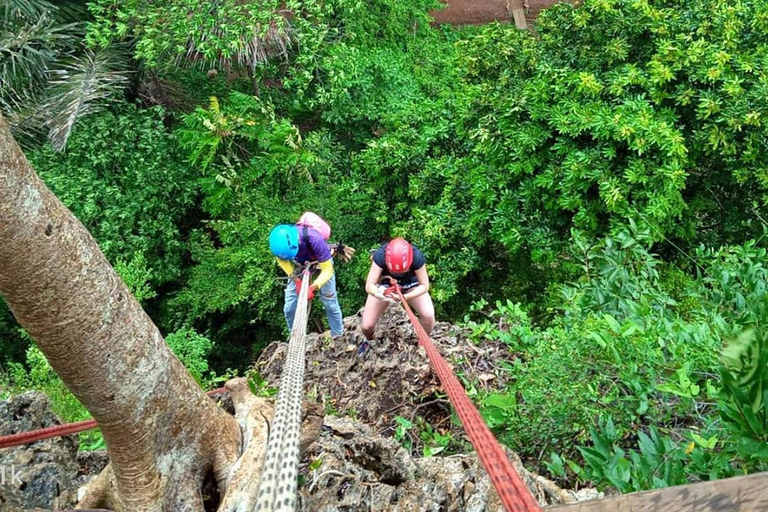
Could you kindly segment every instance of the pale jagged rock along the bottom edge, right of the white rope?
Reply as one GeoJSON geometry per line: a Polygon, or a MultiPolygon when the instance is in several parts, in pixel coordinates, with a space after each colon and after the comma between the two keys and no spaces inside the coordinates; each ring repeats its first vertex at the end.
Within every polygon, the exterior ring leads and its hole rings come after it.
{"type": "MultiPolygon", "coordinates": [[[[504,510],[474,454],[414,459],[394,439],[352,419],[326,416],[323,427],[323,434],[302,457],[301,510],[504,510]]],[[[540,504],[575,501],[575,495],[529,473],[517,456],[509,455],[540,504]]]]}

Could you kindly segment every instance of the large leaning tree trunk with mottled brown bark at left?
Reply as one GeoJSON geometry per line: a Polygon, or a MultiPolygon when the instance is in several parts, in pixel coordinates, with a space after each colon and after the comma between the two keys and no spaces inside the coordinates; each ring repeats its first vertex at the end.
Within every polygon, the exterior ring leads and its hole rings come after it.
{"type": "MultiPolygon", "coordinates": [[[[200,511],[239,456],[203,393],[96,242],[37,177],[0,116],[0,294],[98,421],[125,511],[200,511]]],[[[223,494],[223,493],[222,493],[223,494]]]]}

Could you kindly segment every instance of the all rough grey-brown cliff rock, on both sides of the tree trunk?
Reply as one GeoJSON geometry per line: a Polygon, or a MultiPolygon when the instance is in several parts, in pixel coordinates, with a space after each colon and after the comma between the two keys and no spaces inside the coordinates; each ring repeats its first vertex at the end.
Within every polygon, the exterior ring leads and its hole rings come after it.
{"type": "MultiPolygon", "coordinates": [[[[502,511],[474,454],[422,458],[393,438],[399,415],[410,420],[422,417],[436,431],[466,444],[464,431],[451,421],[440,382],[402,311],[390,308],[382,317],[371,349],[363,357],[357,355],[359,317],[360,313],[345,319],[346,333],[338,340],[326,334],[307,338],[309,403],[302,431],[306,446],[302,446],[300,466],[300,510],[502,511]]],[[[481,389],[506,387],[508,374],[496,367],[506,352],[504,345],[476,346],[466,331],[444,323],[435,327],[433,339],[455,371],[481,389]]],[[[271,385],[280,383],[286,347],[286,343],[271,344],[256,363],[271,385]]],[[[227,394],[217,399],[223,407],[231,407],[227,394]]],[[[0,402],[0,435],[58,424],[40,393],[0,402]]],[[[414,443],[419,442],[415,437],[414,443]]],[[[542,505],[601,497],[594,490],[562,490],[527,471],[515,453],[507,450],[507,455],[542,505]]],[[[77,488],[107,462],[103,451],[78,454],[75,436],[2,450],[0,469],[21,468],[23,484],[0,485],[0,512],[72,507],[77,488]]]]}

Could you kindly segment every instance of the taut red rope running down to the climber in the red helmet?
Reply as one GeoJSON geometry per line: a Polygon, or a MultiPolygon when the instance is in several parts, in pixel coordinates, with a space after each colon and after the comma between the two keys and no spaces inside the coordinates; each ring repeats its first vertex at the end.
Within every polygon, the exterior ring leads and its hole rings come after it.
{"type": "Polygon", "coordinates": [[[419,343],[427,352],[430,363],[435,370],[440,382],[443,384],[451,404],[464,425],[464,430],[469,436],[472,446],[475,447],[480,462],[491,477],[491,482],[499,493],[501,502],[509,512],[541,512],[541,507],[531,495],[515,468],[509,462],[507,455],[493,437],[491,430],[483,421],[480,413],[470,401],[466,391],[459,383],[453,371],[437,351],[434,343],[429,338],[419,320],[411,311],[411,307],[403,297],[399,286],[395,285],[400,303],[408,313],[413,328],[419,337],[419,343]]]}

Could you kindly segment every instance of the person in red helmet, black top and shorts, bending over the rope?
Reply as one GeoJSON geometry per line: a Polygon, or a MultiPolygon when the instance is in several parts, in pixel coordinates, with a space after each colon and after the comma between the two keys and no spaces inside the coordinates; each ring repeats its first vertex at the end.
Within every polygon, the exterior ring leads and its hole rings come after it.
{"type": "Polygon", "coordinates": [[[394,238],[379,247],[371,260],[371,269],[365,281],[368,299],[365,302],[362,323],[366,342],[360,352],[364,352],[367,342],[373,339],[373,332],[381,314],[398,300],[396,296],[384,295],[393,279],[402,288],[405,300],[419,314],[421,326],[430,334],[435,326],[435,306],[429,296],[429,276],[421,251],[403,238],[394,238]]]}

